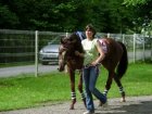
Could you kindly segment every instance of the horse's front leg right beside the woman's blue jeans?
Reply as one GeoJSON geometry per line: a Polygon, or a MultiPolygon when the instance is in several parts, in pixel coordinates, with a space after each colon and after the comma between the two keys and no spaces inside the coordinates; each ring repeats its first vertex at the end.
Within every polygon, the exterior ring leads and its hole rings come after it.
{"type": "Polygon", "coordinates": [[[81,100],[86,106],[86,97],[84,94],[84,91],[83,91],[83,72],[80,71],[80,77],[79,77],[79,81],[78,81],[78,90],[81,94],[81,100]]]}

